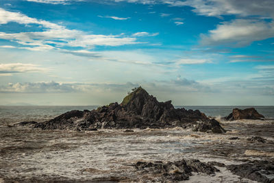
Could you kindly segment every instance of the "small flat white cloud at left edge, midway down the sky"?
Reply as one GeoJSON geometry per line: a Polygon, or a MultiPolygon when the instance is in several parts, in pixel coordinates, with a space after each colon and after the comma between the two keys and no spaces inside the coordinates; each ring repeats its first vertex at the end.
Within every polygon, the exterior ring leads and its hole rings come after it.
{"type": "Polygon", "coordinates": [[[23,64],[23,63],[12,63],[12,64],[0,64],[0,75],[13,73],[29,73],[29,72],[43,72],[45,68],[41,68],[36,64],[23,64]]]}

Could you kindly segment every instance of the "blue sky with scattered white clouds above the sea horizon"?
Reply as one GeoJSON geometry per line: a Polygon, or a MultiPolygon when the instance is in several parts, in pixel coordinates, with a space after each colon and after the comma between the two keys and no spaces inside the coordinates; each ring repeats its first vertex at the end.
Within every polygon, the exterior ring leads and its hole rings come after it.
{"type": "Polygon", "coordinates": [[[1,0],[0,105],[274,105],[273,0],[1,0]]]}

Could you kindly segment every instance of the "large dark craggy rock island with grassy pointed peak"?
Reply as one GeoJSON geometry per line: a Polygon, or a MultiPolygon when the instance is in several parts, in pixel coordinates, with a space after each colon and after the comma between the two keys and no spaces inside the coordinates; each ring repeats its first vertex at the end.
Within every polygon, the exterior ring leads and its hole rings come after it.
{"type": "Polygon", "coordinates": [[[120,104],[110,103],[108,106],[102,106],[91,111],[72,110],[35,125],[35,127],[40,127],[43,130],[163,128],[175,126],[195,126],[194,130],[201,132],[225,132],[219,122],[208,119],[199,110],[174,108],[171,101],[159,102],[141,87],[129,93],[120,104]]]}

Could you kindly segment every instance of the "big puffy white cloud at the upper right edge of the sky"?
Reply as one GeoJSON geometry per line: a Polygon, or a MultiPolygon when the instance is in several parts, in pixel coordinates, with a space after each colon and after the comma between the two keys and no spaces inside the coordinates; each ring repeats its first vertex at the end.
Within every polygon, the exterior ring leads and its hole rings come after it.
{"type": "Polygon", "coordinates": [[[234,45],[241,47],[256,40],[274,37],[274,23],[236,19],[218,25],[208,35],[201,35],[203,45],[234,45]]]}

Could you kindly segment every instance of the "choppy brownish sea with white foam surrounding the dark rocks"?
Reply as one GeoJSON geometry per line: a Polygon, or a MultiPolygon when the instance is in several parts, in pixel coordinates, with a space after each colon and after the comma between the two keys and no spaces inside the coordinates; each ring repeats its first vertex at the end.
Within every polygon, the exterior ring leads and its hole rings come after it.
{"type": "MultiPolygon", "coordinates": [[[[227,116],[233,108],[253,107],[266,117],[263,121],[221,121],[225,134],[192,132],[182,127],[125,133],[123,129],[76,132],[13,125],[97,107],[0,106],[0,182],[162,182],[161,176],[138,171],[134,164],[198,159],[229,165],[274,160],[274,106],[175,106],[217,118],[227,116]],[[252,136],[265,138],[268,143],[247,141],[252,136]]],[[[218,169],[216,175],[192,173],[186,182],[253,183],[225,167],[218,169]]]]}

